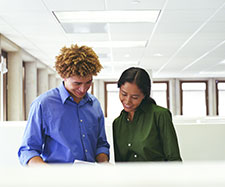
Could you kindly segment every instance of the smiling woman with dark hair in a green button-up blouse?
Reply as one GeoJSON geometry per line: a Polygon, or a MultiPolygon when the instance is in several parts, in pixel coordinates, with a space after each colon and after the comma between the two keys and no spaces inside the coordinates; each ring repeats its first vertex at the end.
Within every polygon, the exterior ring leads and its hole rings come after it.
{"type": "Polygon", "coordinates": [[[150,97],[148,73],[131,67],[118,87],[124,109],[113,122],[115,161],[181,161],[171,113],[150,97]]]}

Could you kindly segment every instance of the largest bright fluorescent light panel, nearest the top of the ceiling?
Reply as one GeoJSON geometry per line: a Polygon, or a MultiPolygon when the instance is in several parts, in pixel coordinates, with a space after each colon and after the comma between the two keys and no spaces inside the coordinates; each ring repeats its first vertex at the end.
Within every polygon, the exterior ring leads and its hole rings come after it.
{"type": "Polygon", "coordinates": [[[55,11],[61,23],[78,22],[151,22],[155,23],[160,10],[139,11],[55,11]]]}

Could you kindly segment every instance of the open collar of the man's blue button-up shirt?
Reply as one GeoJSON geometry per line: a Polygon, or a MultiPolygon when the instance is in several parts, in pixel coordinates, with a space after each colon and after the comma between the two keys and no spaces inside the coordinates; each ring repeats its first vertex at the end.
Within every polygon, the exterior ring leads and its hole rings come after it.
{"type": "MultiPolygon", "coordinates": [[[[70,93],[66,90],[65,86],[64,86],[64,82],[62,81],[62,83],[59,85],[58,87],[59,89],[59,94],[62,100],[62,103],[64,104],[66,102],[66,100],[68,98],[71,97],[70,93]]],[[[84,98],[80,101],[79,104],[85,104],[86,102],[93,102],[93,98],[91,97],[91,95],[89,93],[87,93],[84,98]]]]}

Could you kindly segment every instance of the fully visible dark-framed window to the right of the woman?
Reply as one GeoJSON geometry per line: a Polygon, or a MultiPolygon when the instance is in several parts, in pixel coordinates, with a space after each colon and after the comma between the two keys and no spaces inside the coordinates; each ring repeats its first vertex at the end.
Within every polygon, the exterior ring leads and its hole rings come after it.
{"type": "Polygon", "coordinates": [[[181,115],[208,115],[208,82],[180,81],[181,115]]]}

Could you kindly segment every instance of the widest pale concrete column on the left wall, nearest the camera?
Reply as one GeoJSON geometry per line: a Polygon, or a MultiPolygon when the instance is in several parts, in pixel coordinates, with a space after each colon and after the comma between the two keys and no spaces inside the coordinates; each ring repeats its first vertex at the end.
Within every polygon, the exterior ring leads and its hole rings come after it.
{"type": "Polygon", "coordinates": [[[8,53],[8,120],[24,120],[23,61],[20,50],[8,53]]]}

